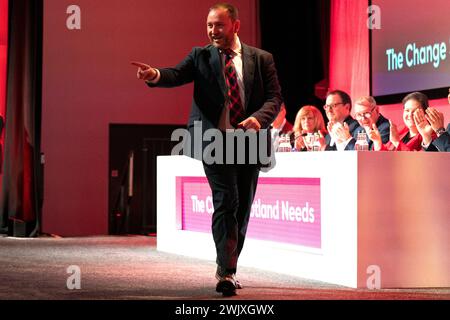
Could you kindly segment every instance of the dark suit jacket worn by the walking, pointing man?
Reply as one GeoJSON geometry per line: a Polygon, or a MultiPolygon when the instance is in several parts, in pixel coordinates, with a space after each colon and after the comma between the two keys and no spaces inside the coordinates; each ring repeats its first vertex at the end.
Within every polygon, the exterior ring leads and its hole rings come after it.
{"type": "MultiPolygon", "coordinates": [[[[282,101],[275,63],[270,53],[244,43],[241,45],[245,116],[255,117],[261,128],[266,129],[277,116],[282,101]]],[[[148,83],[150,87],[169,88],[194,82],[194,97],[188,122],[191,137],[194,121],[202,122],[202,132],[217,128],[222,109],[226,104],[227,88],[221,56],[216,47],[212,45],[195,47],[177,66],[159,71],[160,80],[157,84],[148,83]]],[[[270,139],[270,132],[268,138],[270,139]]],[[[202,150],[209,143],[211,142],[203,141],[202,150]]]]}

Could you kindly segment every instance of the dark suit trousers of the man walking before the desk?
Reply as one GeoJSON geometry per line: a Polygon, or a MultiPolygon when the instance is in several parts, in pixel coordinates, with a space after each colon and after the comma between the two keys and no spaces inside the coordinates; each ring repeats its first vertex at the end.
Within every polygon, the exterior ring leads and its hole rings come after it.
{"type": "Polygon", "coordinates": [[[251,164],[203,164],[212,191],[212,234],[217,264],[235,273],[244,246],[259,166],[251,164]]]}

